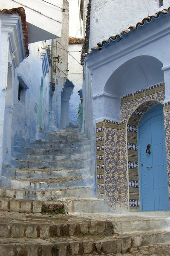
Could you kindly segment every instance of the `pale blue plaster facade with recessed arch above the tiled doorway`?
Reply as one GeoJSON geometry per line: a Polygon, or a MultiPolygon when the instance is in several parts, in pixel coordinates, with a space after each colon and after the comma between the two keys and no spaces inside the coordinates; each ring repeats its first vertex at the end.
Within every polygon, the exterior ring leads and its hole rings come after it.
{"type": "MultiPolygon", "coordinates": [[[[120,124],[122,121],[120,116],[124,116],[124,111],[130,113],[130,110],[128,102],[124,105],[124,109],[121,109],[121,96],[124,94],[130,98],[130,93],[135,92],[138,95],[136,96],[137,101],[140,90],[165,81],[165,99],[159,97],[162,102],[169,101],[170,55],[167,51],[170,40],[169,20],[169,14],[160,17],[153,23],[122,38],[121,41],[105,44],[100,51],[92,50],[91,54],[86,56],[83,87],[86,92],[84,96],[86,106],[84,131],[91,140],[92,148],[95,147],[95,141],[92,139],[95,123],[109,119],[109,122],[113,122],[114,125],[122,125],[122,131],[125,131],[124,123],[120,124]]],[[[150,99],[150,96],[147,97],[149,95],[147,93],[144,97],[145,101],[150,99]]],[[[153,99],[155,99],[154,97],[156,94],[153,93],[153,99]]],[[[131,105],[131,111],[136,108],[135,104],[136,102],[133,102],[131,105]]],[[[99,134],[104,131],[100,130],[102,127],[104,126],[99,127],[99,134]]],[[[110,126],[108,125],[107,128],[110,126]]],[[[98,139],[97,147],[99,147],[99,151],[102,151],[102,140],[104,140],[105,134],[98,136],[99,139],[96,138],[96,140],[98,139]]],[[[104,154],[98,156],[97,160],[100,162],[98,168],[103,168],[104,158],[100,157],[103,157],[104,154]]],[[[125,154],[122,156],[124,157],[125,154]]],[[[92,161],[95,162],[96,157],[93,154],[92,158],[92,161]]],[[[125,166],[126,164],[125,160],[125,166]]],[[[100,172],[99,175],[101,175],[100,172]]],[[[125,199],[126,207],[128,207],[127,198],[125,199]]]]}

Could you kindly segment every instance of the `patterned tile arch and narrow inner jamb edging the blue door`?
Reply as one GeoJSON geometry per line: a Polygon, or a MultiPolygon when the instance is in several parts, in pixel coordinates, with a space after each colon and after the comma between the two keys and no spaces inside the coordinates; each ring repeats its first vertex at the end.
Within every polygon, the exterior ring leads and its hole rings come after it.
{"type": "Polygon", "coordinates": [[[158,102],[164,101],[164,83],[159,83],[136,92],[141,98],[135,96],[135,93],[127,95],[124,104],[121,105],[122,119],[128,119],[127,122],[127,157],[128,157],[128,180],[129,180],[129,207],[130,210],[140,210],[139,200],[139,170],[138,170],[138,122],[144,113],[158,102]],[[147,94],[147,95],[146,95],[147,94]],[[130,100],[131,101],[128,102],[130,100]],[[138,98],[138,99],[137,99],[138,98]],[[127,103],[128,102],[128,103],[127,103]],[[128,109],[127,109],[128,108],[128,109]]]}

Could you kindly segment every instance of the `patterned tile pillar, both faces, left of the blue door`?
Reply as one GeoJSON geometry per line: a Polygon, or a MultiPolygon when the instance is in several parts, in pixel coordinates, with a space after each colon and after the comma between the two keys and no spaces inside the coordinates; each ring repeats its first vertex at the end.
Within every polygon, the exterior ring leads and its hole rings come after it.
{"type": "Polygon", "coordinates": [[[96,123],[98,194],[106,196],[112,209],[128,209],[125,128],[125,122],[114,120],[96,123]]]}

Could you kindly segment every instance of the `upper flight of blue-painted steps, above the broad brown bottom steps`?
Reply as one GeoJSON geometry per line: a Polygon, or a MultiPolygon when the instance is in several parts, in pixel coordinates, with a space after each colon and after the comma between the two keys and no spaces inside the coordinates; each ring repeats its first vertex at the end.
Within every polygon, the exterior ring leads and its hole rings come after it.
{"type": "Polygon", "coordinates": [[[17,142],[11,166],[3,165],[0,209],[35,213],[54,205],[65,212],[109,211],[104,199],[94,197],[90,161],[89,141],[77,128],[17,142]]]}

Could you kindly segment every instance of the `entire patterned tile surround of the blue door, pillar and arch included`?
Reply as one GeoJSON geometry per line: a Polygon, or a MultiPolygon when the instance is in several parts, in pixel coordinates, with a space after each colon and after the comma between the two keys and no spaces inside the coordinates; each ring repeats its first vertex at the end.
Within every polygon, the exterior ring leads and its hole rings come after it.
{"type": "Polygon", "coordinates": [[[103,119],[96,123],[98,194],[106,197],[114,210],[140,211],[138,122],[157,103],[164,106],[170,198],[170,102],[164,98],[164,82],[154,84],[121,97],[120,122],[103,119]]]}

